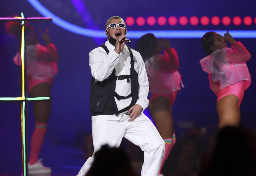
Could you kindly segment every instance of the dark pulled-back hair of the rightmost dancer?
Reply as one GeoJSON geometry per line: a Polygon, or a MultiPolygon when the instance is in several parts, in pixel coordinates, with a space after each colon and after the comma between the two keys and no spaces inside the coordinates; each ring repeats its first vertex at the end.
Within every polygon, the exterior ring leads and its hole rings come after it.
{"type": "Polygon", "coordinates": [[[214,43],[214,34],[216,32],[207,32],[201,39],[201,44],[204,49],[205,54],[210,55],[213,51],[210,49],[214,43]]]}

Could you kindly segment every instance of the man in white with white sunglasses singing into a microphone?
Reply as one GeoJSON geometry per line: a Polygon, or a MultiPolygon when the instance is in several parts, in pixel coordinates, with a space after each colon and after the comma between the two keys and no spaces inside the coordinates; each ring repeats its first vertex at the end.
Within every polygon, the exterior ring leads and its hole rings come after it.
{"type": "MultiPolygon", "coordinates": [[[[108,41],[89,53],[94,153],[104,144],[119,147],[124,137],[144,151],[141,176],[157,176],[165,142],[143,113],[148,106],[148,78],[141,55],[126,46],[126,33],[124,20],[112,16],[106,23],[108,41]]],[[[78,176],[86,175],[93,160],[94,154],[78,176]]]]}

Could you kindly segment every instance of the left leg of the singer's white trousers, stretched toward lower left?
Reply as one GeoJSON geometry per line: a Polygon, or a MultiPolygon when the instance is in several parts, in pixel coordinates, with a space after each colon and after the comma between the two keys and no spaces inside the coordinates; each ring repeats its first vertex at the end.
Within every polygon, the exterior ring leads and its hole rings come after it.
{"type": "Polygon", "coordinates": [[[94,152],[85,161],[77,176],[84,176],[88,172],[94,160],[94,153],[100,150],[102,145],[108,144],[110,147],[119,147],[123,139],[125,126],[122,121],[95,119],[91,123],[94,152]]]}

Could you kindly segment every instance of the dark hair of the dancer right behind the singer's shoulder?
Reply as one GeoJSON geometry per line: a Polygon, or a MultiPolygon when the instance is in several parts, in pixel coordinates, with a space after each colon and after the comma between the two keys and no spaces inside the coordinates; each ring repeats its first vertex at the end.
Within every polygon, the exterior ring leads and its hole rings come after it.
{"type": "Polygon", "coordinates": [[[137,42],[135,50],[138,51],[143,61],[147,61],[150,57],[154,56],[157,47],[157,38],[152,33],[145,34],[140,37],[137,42]]]}

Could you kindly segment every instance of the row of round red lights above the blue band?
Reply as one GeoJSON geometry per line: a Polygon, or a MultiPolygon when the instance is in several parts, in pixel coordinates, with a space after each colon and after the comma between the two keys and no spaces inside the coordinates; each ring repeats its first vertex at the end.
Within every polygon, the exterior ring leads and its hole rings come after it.
{"type": "MultiPolygon", "coordinates": [[[[125,18],[125,24],[127,26],[133,26],[135,22],[138,26],[144,26],[146,23],[149,26],[153,26],[156,23],[160,26],[164,26],[167,24],[167,22],[171,26],[175,26],[178,23],[181,26],[185,26],[188,23],[190,23],[192,26],[196,26],[199,23],[203,26],[207,26],[210,23],[214,26],[218,26],[220,23],[225,26],[228,26],[231,23],[236,26],[239,26],[242,23],[244,23],[246,26],[250,26],[253,24],[253,19],[251,16],[245,16],[243,19],[240,16],[235,16],[232,19],[229,16],[224,16],[221,19],[219,16],[213,16],[211,18],[208,16],[202,16],[200,19],[197,16],[191,16],[190,18],[187,18],[186,16],[181,16],[179,18],[170,16],[168,19],[165,16],[159,16],[157,19],[154,16],[149,16],[146,19],[142,16],[139,16],[136,19],[134,19],[132,16],[125,18]]],[[[254,23],[256,24],[256,17],[254,18],[254,23]]]]}

